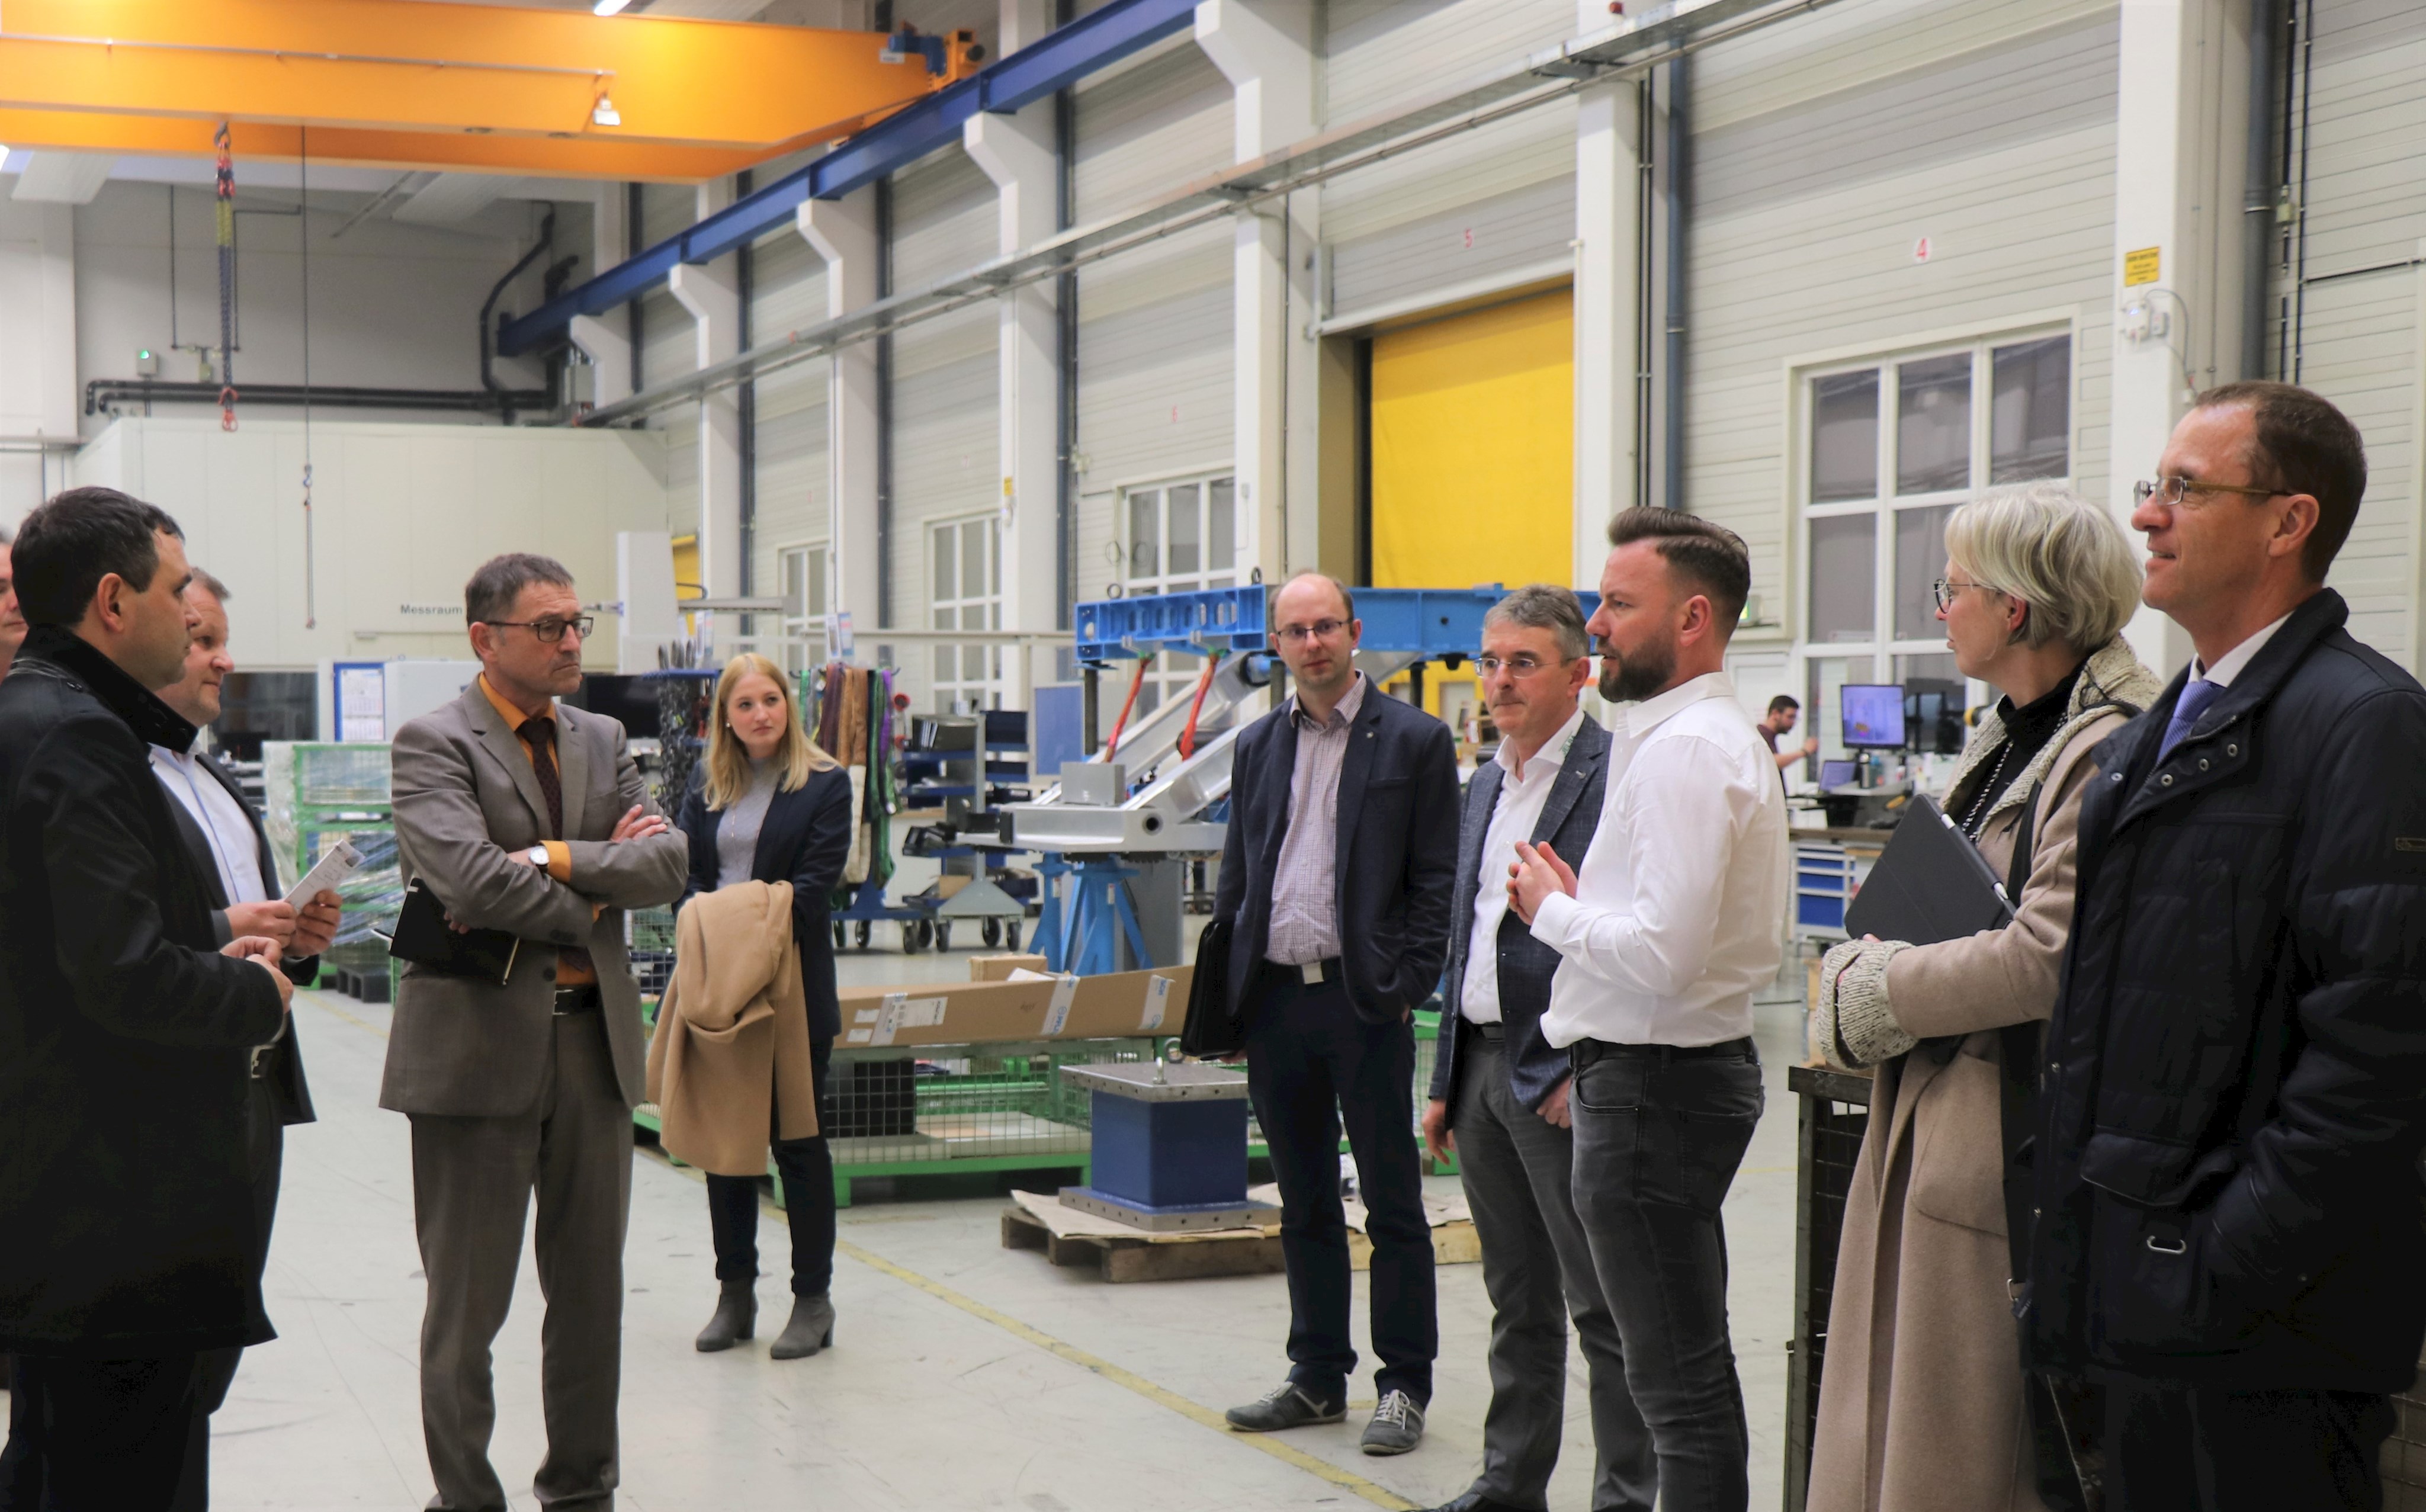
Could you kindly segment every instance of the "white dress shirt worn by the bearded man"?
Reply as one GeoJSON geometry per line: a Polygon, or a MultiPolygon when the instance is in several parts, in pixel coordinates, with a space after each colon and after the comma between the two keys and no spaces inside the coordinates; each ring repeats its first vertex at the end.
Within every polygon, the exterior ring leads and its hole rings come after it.
{"type": "Polygon", "coordinates": [[[1778,973],[1786,794],[1725,672],[1616,711],[1601,828],[1533,939],[1560,956],[1543,1036],[1703,1046],[1752,1034],[1778,973]]]}

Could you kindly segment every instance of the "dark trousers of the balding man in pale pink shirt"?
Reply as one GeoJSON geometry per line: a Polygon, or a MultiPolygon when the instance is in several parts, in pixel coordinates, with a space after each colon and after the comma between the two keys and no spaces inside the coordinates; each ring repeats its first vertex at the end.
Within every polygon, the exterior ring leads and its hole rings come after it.
{"type": "Polygon", "coordinates": [[[1359,1019],[1339,983],[1305,983],[1295,966],[1266,966],[1247,1002],[1247,1092],[1281,1184],[1288,1379],[1342,1403],[1356,1371],[1349,1226],[1339,1201],[1344,1124],[1373,1240],[1368,1301],[1380,1357],[1373,1383],[1429,1403],[1441,1323],[1414,1146],[1414,1031],[1405,1019],[1359,1019]]]}

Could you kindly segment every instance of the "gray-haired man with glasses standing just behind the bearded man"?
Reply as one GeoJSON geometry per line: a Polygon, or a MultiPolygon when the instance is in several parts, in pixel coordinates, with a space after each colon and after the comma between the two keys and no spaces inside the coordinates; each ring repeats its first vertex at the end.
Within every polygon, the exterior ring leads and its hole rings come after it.
{"type": "Polygon", "coordinates": [[[1652,1512],[1652,1437],[1625,1388],[1618,1325],[1574,1216],[1567,1053],[1541,1036],[1557,951],[1509,910],[1516,842],[1582,857],[1601,823],[1608,731],[1577,704],[1591,677],[1574,592],[1536,582],[1482,619],[1482,697],[1499,757],[1465,784],[1424,1143],[1458,1153],[1492,1296],[1482,1473],[1441,1512],[1538,1512],[1567,1427],[1567,1315],[1591,1371],[1594,1512],[1652,1512]]]}

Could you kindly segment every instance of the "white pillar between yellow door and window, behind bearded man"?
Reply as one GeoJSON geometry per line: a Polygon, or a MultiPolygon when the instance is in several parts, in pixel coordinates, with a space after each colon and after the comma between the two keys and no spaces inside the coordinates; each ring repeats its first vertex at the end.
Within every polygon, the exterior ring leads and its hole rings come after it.
{"type": "MultiPolygon", "coordinates": [[[[1577,24],[1606,24],[1584,0],[1577,24]]],[[[1577,97],[1574,121],[1574,585],[1594,587],[1608,556],[1608,517],[1635,502],[1635,347],[1640,345],[1640,126],[1642,85],[1611,83],[1577,97]]]]}

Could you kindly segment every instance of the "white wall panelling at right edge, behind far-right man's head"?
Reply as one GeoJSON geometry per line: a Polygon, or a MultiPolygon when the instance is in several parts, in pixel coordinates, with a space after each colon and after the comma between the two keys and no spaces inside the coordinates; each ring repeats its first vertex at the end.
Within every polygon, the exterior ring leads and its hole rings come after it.
{"type": "MultiPolygon", "coordinates": [[[[2319,0],[2310,80],[2307,277],[2416,257],[2426,238],[2426,12],[2319,0]]],[[[2411,672],[2419,658],[2419,269],[2310,284],[2297,379],[2368,444],[2368,495],[2329,582],[2351,633],[2411,672]]]]}

